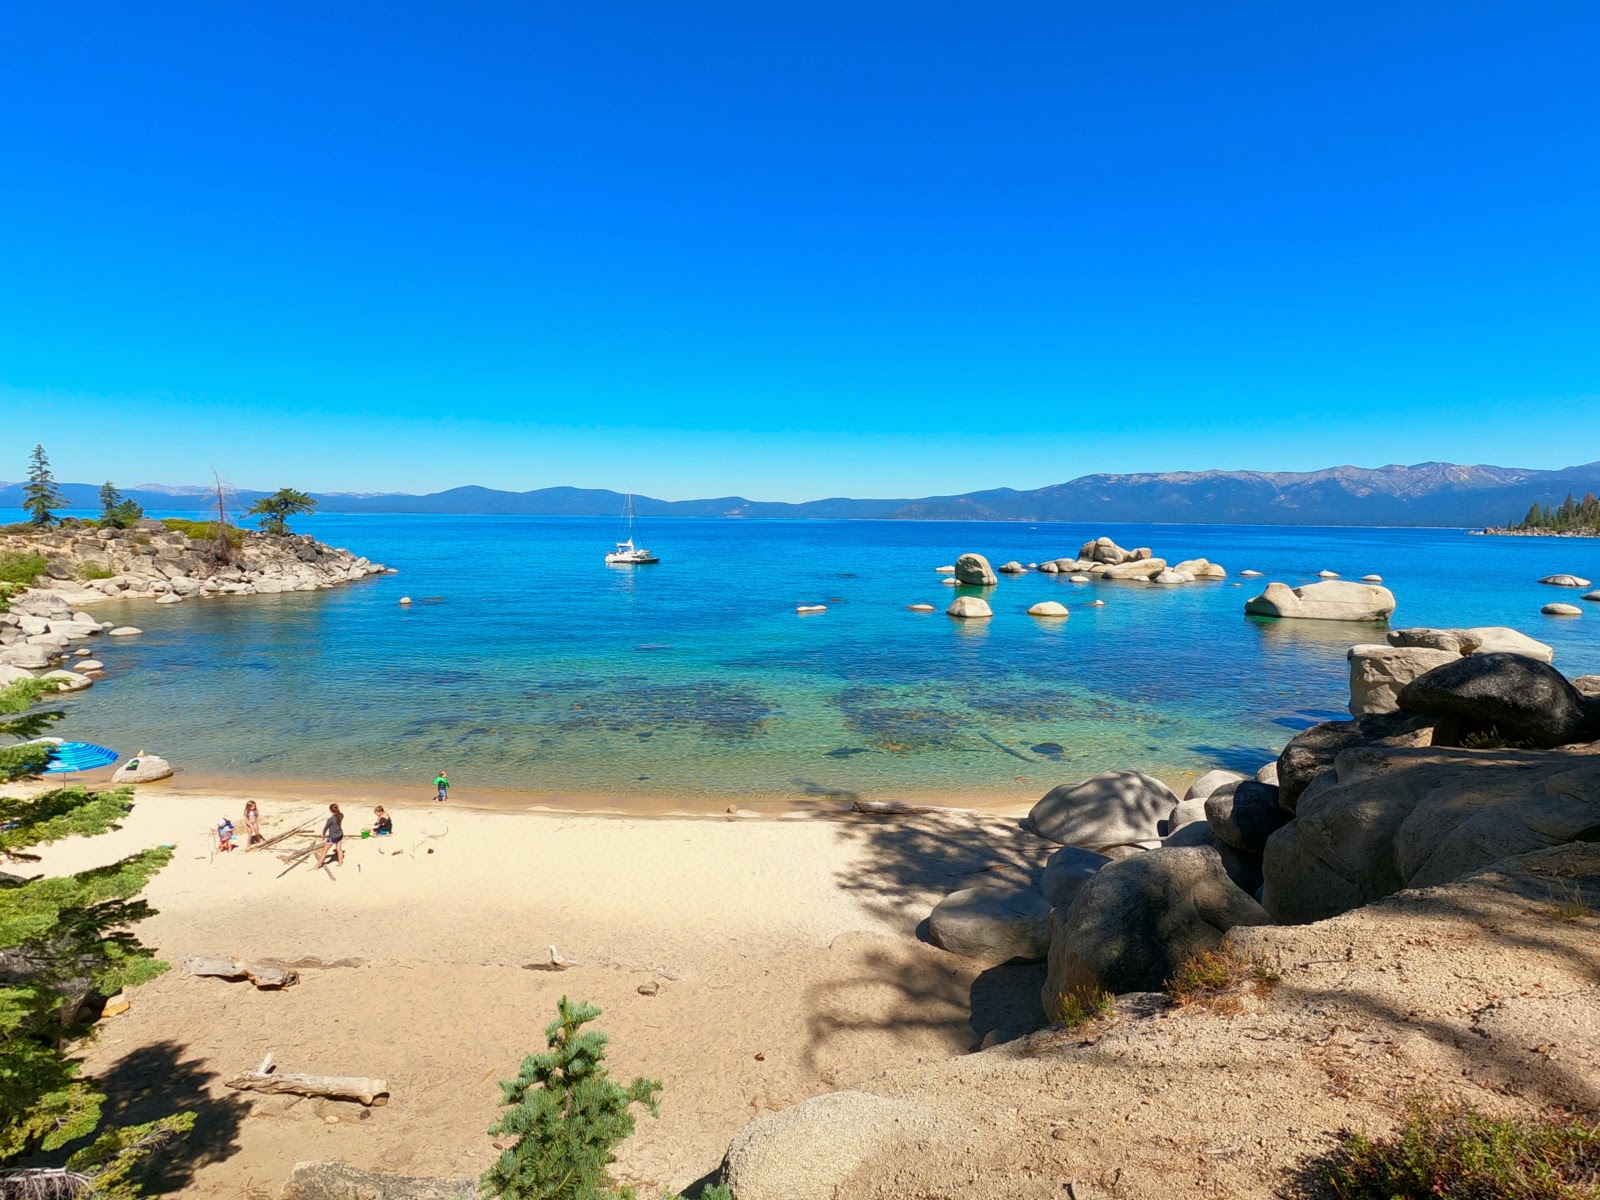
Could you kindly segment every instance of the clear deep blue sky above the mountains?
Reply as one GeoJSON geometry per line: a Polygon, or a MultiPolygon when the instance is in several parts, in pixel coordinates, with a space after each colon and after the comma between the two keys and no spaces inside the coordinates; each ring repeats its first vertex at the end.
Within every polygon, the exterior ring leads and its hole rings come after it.
{"type": "Polygon", "coordinates": [[[1600,5],[35,3],[0,478],[1600,459],[1600,5]]]}

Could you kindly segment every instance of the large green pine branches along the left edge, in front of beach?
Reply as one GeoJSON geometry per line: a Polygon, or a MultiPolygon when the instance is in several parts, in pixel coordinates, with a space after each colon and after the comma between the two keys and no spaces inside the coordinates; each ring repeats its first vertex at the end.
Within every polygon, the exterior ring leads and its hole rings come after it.
{"type": "MultiPolygon", "coordinates": [[[[58,710],[35,710],[51,688],[46,680],[0,688],[0,736],[38,738],[61,720],[58,710]]],[[[0,747],[0,779],[38,774],[51,752],[50,742],[0,747]]],[[[104,834],[131,806],[130,789],[0,797],[0,861],[37,861],[34,846],[104,834]]],[[[48,1181],[56,1195],[134,1197],[139,1162],[194,1125],[194,1114],[182,1114],[94,1136],[104,1098],[74,1054],[90,1030],[78,1011],[86,990],[110,995],[166,970],[130,926],[150,914],[138,894],[170,859],[170,850],[147,850],[75,875],[0,875],[0,1178],[19,1195],[48,1181]],[[13,1168],[24,1157],[61,1162],[13,1168]]]]}

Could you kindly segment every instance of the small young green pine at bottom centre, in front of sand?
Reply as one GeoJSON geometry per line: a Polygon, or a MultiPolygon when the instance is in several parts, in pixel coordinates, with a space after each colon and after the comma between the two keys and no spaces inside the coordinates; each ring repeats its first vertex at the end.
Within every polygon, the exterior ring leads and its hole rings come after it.
{"type": "Polygon", "coordinates": [[[514,1080],[501,1080],[506,1112],[491,1136],[517,1141],[483,1174],[483,1195],[498,1200],[632,1200],[606,1166],[618,1142],[634,1133],[630,1106],[659,1117],[658,1080],[635,1078],[626,1088],[605,1069],[606,1035],[584,1032],[600,1016],[590,1003],[565,995],[560,1016],[546,1026],[549,1051],[528,1054],[514,1080]]]}

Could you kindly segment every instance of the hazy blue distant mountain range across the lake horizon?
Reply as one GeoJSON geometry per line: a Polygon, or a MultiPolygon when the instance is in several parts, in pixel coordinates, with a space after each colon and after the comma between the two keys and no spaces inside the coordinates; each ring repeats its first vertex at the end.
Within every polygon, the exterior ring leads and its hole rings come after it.
{"type": "MultiPolygon", "coordinates": [[[[70,507],[98,509],[99,485],[64,483],[70,507]]],[[[790,517],[834,520],[1174,522],[1190,525],[1445,525],[1520,520],[1530,504],[1600,493],[1600,462],[1562,470],[1419,462],[1413,467],[1326,470],[1179,470],[1083,475],[1034,491],[994,488],[922,499],[832,498],[782,504],[742,496],[661,501],[635,496],[642,517],[790,517]]],[[[200,512],[210,490],[141,483],[123,494],[146,509],[200,512]]],[[[266,496],[240,490],[240,507],[266,496]]],[[[598,488],[450,488],[403,493],[314,493],[322,512],[499,514],[616,517],[622,494],[598,488]]],[[[21,483],[0,483],[0,507],[22,501],[21,483]]]]}

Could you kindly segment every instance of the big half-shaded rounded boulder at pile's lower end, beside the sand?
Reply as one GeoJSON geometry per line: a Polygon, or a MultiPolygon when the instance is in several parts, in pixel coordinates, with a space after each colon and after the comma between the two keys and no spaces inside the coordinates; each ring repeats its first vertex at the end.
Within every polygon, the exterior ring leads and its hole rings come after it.
{"type": "Polygon", "coordinates": [[[1163,846],[1099,870],[1051,922],[1046,1013],[1096,989],[1154,992],[1234,926],[1269,917],[1214,850],[1163,846]]]}

